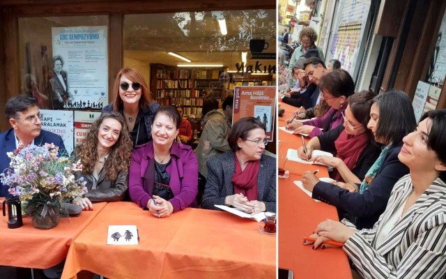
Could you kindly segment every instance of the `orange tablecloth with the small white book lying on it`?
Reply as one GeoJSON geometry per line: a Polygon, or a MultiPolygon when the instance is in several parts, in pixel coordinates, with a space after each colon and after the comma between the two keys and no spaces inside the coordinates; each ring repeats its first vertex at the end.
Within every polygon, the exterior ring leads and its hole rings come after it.
{"type": "Polygon", "coordinates": [[[72,243],[62,278],[275,278],[275,236],[231,213],[185,209],[155,218],[130,202],[107,204],[72,243]],[[107,246],[109,225],[137,225],[137,246],[107,246]]]}

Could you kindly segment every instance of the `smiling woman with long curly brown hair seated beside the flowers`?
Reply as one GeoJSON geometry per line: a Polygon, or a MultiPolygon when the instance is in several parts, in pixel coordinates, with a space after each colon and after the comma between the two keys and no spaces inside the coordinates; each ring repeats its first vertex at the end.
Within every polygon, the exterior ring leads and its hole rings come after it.
{"type": "Polygon", "coordinates": [[[77,175],[84,177],[89,192],[73,199],[73,204],[93,210],[92,202],[118,202],[125,197],[132,154],[132,139],[125,133],[126,128],[121,114],[104,113],[77,144],[74,153],[84,167],[77,175]]]}

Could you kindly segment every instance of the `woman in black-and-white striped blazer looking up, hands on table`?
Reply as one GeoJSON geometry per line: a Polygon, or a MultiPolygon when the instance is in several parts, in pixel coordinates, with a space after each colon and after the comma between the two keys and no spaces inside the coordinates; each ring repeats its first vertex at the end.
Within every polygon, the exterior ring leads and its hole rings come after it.
{"type": "Polygon", "coordinates": [[[446,278],[446,110],[426,112],[403,138],[399,160],[410,174],[394,186],[372,229],[325,220],[314,248],[344,243],[364,278],[446,278]]]}

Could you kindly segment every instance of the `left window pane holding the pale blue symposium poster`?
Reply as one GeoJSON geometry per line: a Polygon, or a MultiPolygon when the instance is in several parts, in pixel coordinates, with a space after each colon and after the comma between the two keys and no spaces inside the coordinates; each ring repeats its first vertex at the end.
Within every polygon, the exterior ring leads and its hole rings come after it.
{"type": "Polygon", "coordinates": [[[22,94],[47,110],[107,103],[107,15],[20,17],[18,25],[22,94]]]}

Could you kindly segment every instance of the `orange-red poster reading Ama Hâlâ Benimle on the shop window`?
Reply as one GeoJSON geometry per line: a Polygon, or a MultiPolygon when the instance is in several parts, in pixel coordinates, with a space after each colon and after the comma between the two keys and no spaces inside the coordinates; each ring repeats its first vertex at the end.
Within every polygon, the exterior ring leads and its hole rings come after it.
{"type": "Polygon", "coordinates": [[[266,140],[274,135],[276,86],[235,86],[232,123],[254,117],[266,127],[266,140]]]}

